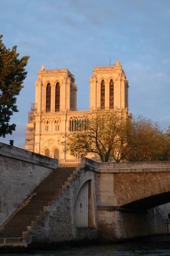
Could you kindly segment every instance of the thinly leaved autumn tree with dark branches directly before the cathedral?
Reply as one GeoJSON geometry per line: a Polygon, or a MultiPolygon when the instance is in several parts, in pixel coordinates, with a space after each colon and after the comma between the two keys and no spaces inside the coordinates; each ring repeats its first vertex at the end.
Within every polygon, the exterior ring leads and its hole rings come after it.
{"type": "Polygon", "coordinates": [[[115,161],[122,159],[126,143],[125,118],[116,111],[98,111],[88,117],[86,131],[72,132],[66,139],[66,151],[75,157],[93,154],[101,161],[110,157],[115,161]]]}

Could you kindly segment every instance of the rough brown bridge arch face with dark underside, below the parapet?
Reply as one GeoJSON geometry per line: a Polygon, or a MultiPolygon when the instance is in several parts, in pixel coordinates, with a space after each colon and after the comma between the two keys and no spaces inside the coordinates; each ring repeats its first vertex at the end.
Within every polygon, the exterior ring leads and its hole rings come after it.
{"type": "MultiPolygon", "coordinates": [[[[162,164],[163,165],[163,164],[162,164]]],[[[170,172],[157,170],[114,174],[114,193],[118,205],[132,209],[150,209],[170,202],[170,172]]]]}

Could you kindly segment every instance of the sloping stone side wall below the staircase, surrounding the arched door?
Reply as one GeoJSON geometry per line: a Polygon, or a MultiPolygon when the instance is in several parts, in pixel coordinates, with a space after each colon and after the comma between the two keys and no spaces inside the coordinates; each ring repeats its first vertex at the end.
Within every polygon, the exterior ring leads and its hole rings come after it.
{"type": "MultiPolygon", "coordinates": [[[[45,214],[35,227],[32,228],[27,238],[28,243],[61,243],[65,241],[80,241],[83,239],[97,239],[97,202],[95,191],[96,173],[84,168],[84,163],[77,168],[77,174],[72,182],[59,198],[45,207],[45,214]],[[75,225],[75,203],[82,186],[91,180],[93,210],[93,227],[76,227],[75,225]]],[[[91,164],[93,167],[93,164],[91,164]]]]}

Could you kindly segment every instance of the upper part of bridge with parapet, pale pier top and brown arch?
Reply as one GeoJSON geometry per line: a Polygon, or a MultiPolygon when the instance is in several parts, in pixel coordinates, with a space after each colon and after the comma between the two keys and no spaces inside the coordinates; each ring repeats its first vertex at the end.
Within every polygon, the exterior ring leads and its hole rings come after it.
{"type": "Polygon", "coordinates": [[[170,162],[98,163],[97,172],[101,204],[144,210],[170,200],[170,162]]]}

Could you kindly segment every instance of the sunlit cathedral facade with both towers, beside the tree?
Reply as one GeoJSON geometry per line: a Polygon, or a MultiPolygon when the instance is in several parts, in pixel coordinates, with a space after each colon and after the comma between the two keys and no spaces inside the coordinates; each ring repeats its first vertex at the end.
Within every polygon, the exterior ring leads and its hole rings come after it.
{"type": "Polygon", "coordinates": [[[65,152],[66,135],[82,131],[88,116],[114,109],[128,114],[128,81],[116,61],[108,67],[95,67],[89,79],[89,109],[77,110],[77,85],[68,69],[46,70],[44,65],[35,83],[35,104],[29,112],[26,149],[53,158],[61,163],[76,159],[65,152]]]}

